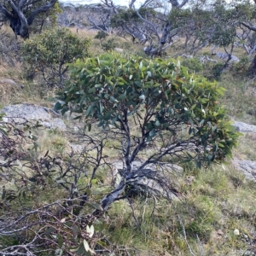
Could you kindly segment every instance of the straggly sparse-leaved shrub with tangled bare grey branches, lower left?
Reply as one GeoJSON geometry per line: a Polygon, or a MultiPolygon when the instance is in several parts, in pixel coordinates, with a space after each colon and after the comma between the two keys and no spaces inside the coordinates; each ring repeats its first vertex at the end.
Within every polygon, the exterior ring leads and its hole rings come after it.
{"type": "MultiPolygon", "coordinates": [[[[95,254],[100,235],[94,230],[96,217],[87,212],[99,206],[89,200],[84,185],[88,169],[95,167],[88,156],[90,142],[83,154],[69,154],[70,159],[51,157],[49,149],[43,155],[35,136],[42,125],[21,123],[5,123],[0,114],[0,254],[95,254]]],[[[96,187],[96,179],[90,183],[96,187]]]]}

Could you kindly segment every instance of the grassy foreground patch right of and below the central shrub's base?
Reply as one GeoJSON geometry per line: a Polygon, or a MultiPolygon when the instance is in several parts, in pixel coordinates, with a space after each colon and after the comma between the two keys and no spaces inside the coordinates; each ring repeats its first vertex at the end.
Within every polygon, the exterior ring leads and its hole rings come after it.
{"type": "Polygon", "coordinates": [[[152,198],[118,201],[106,212],[105,229],[102,223],[96,228],[114,244],[136,247],[131,255],[251,252],[256,235],[254,183],[229,166],[214,166],[185,173],[179,192],[172,204],[152,198]],[[188,182],[188,177],[193,179],[188,182]]]}

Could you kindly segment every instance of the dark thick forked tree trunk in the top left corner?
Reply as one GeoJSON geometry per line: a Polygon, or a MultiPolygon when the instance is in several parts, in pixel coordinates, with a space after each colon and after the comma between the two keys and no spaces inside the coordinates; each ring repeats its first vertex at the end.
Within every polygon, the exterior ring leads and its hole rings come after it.
{"type": "Polygon", "coordinates": [[[50,0],[40,6],[37,9],[31,10],[31,5],[33,3],[40,3],[42,0],[38,1],[27,1],[27,0],[6,0],[4,3],[0,4],[0,12],[9,20],[9,25],[15,32],[16,36],[21,38],[29,38],[29,26],[32,25],[33,20],[37,15],[47,12],[52,8],[57,0],[50,0]]]}

